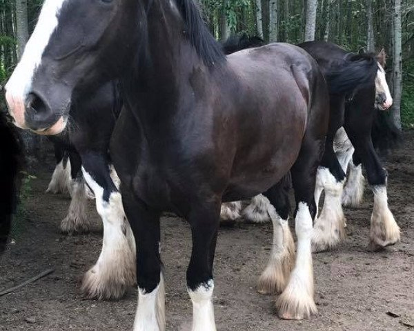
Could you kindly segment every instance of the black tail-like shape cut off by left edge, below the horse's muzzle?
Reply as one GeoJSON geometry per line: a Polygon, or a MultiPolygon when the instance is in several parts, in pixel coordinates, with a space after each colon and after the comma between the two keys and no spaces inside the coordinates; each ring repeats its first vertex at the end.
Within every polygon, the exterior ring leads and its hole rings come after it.
{"type": "Polygon", "coordinates": [[[21,169],[21,145],[17,132],[0,112],[0,253],[6,242],[16,210],[19,170],[21,169]]]}

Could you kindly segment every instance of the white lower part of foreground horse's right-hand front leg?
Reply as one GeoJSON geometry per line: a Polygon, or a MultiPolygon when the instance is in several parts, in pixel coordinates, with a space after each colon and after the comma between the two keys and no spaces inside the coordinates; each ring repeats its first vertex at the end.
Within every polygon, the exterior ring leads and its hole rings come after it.
{"type": "Polygon", "coordinates": [[[216,331],[213,307],[214,281],[210,279],[196,290],[188,290],[193,301],[192,331],[216,331]]]}

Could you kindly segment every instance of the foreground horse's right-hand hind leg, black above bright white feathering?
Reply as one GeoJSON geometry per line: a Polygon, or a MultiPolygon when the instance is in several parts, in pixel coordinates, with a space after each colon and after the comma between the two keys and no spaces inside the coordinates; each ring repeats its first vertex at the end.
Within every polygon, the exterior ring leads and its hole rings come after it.
{"type": "Polygon", "coordinates": [[[286,288],[276,301],[277,312],[282,319],[304,319],[317,312],[314,300],[311,239],[313,219],[316,216],[314,197],[316,172],[324,146],[324,132],[321,130],[319,133],[314,133],[309,130],[311,129],[308,128],[299,156],[290,170],[296,200],[297,252],[295,266],[290,273],[286,288]]]}

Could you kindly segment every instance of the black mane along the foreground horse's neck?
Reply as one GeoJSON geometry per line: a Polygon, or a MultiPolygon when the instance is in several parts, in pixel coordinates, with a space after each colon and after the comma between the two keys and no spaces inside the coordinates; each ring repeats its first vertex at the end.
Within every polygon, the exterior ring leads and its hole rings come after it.
{"type": "Polygon", "coordinates": [[[194,0],[175,0],[175,3],[184,19],[188,39],[206,66],[226,61],[221,45],[208,31],[197,3],[194,0]]]}

